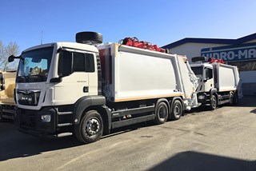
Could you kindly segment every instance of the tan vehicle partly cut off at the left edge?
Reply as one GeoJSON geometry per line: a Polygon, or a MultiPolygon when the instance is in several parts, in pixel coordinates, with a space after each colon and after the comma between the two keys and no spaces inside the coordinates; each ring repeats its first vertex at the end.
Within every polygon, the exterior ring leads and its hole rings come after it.
{"type": "Polygon", "coordinates": [[[14,119],[16,71],[0,71],[0,121],[14,119]]]}

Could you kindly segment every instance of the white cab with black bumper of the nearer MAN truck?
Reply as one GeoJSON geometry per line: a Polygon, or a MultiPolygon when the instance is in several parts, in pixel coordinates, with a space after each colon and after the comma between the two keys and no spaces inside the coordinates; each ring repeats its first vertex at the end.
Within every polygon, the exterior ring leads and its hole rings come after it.
{"type": "Polygon", "coordinates": [[[81,107],[78,101],[105,104],[95,46],[56,42],[31,47],[18,58],[15,100],[21,130],[66,132],[82,115],[73,115],[81,107]]]}

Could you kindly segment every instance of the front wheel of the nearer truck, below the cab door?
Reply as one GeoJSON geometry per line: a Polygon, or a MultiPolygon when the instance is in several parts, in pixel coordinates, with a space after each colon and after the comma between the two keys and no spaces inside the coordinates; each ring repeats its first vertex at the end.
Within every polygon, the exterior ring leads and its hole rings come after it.
{"type": "Polygon", "coordinates": [[[74,125],[74,135],[83,143],[98,141],[102,137],[102,116],[96,110],[90,110],[82,116],[78,125],[74,125]]]}

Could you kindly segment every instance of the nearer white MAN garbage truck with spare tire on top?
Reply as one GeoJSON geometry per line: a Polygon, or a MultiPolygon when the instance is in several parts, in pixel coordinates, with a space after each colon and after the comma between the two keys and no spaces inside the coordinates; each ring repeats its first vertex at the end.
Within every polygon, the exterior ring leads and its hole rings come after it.
{"type": "Polygon", "coordinates": [[[76,42],[34,46],[10,56],[9,62],[20,59],[18,129],[44,137],[74,134],[90,143],[125,125],[178,120],[184,110],[201,105],[198,77],[186,58],[149,43],[137,45],[142,48],[102,44],[102,34],[80,32],[76,42]]]}

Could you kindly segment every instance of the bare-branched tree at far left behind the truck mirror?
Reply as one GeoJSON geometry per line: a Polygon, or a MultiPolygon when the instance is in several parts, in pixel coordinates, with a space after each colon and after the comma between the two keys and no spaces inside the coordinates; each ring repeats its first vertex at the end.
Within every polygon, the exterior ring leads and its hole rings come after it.
{"type": "Polygon", "coordinates": [[[18,54],[18,45],[16,42],[10,42],[7,46],[5,46],[2,41],[0,41],[0,70],[17,70],[18,60],[14,60],[14,62],[9,63],[8,57],[10,55],[18,54]]]}

